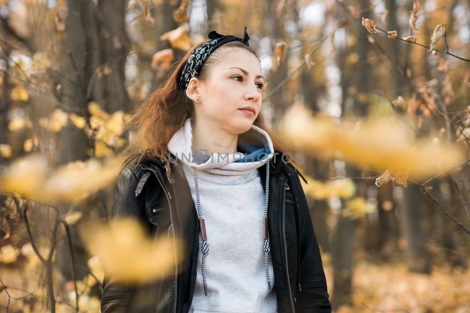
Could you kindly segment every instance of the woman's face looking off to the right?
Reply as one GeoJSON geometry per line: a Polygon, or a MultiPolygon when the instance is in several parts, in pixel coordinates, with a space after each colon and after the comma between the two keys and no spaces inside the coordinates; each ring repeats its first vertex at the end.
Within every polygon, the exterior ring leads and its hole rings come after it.
{"type": "Polygon", "coordinates": [[[261,64],[258,58],[243,49],[229,50],[212,69],[205,82],[198,82],[194,102],[196,120],[219,127],[231,134],[249,130],[262,103],[261,64]],[[254,114],[240,110],[251,107],[254,114]]]}

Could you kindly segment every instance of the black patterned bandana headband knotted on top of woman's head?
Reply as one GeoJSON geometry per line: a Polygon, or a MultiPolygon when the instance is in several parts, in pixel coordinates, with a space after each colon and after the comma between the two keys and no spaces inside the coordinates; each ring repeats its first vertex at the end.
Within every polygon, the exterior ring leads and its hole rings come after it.
{"type": "Polygon", "coordinates": [[[199,74],[204,61],[207,59],[209,54],[211,54],[212,51],[230,41],[240,41],[248,47],[248,40],[250,39],[250,37],[246,33],[246,26],[243,38],[239,38],[232,35],[220,35],[216,31],[211,31],[208,37],[213,40],[196,47],[196,49],[194,49],[191,55],[189,56],[189,59],[186,62],[183,71],[181,72],[179,88],[184,93],[186,99],[188,99],[188,96],[186,96],[186,88],[188,88],[189,80],[191,79],[191,77],[195,77],[199,74]]]}

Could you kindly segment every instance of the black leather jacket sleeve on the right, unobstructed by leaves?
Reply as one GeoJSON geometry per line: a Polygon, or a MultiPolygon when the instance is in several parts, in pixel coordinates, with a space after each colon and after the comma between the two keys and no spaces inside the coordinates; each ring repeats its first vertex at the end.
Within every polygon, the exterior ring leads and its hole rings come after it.
{"type": "Polygon", "coordinates": [[[302,289],[296,292],[296,305],[299,312],[331,312],[320,248],[313,230],[304,190],[298,175],[295,177],[296,198],[298,199],[298,248],[300,250],[298,270],[302,289]]]}

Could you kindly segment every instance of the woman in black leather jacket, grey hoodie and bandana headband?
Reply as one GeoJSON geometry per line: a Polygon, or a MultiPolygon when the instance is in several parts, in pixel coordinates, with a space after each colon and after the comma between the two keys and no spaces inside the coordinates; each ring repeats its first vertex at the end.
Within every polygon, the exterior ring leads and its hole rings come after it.
{"type": "Polygon", "coordinates": [[[144,152],[123,165],[139,156],[112,206],[111,218],[173,240],[176,266],[151,284],[105,276],[102,312],[331,312],[295,158],[260,112],[246,27],[209,38],[126,121],[127,152],[144,152]]]}

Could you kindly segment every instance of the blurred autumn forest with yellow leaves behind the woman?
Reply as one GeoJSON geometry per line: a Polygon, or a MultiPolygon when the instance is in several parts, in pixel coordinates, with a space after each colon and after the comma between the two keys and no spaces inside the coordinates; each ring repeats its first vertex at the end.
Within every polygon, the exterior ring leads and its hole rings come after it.
{"type": "Polygon", "coordinates": [[[100,312],[123,122],[245,26],[334,312],[470,312],[469,0],[0,0],[0,310],[100,312]]]}

